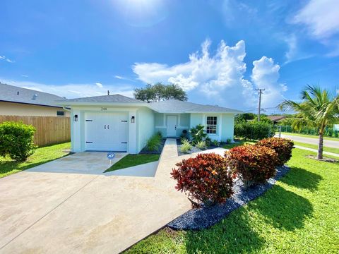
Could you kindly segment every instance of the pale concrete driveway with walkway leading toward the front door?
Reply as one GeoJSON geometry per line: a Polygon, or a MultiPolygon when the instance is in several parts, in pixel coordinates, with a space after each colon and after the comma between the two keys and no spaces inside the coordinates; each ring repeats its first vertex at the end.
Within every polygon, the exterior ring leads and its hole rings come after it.
{"type": "Polygon", "coordinates": [[[191,209],[169,175],[183,157],[136,177],[101,174],[104,153],[71,156],[0,179],[0,253],[119,253],[191,209]]]}

